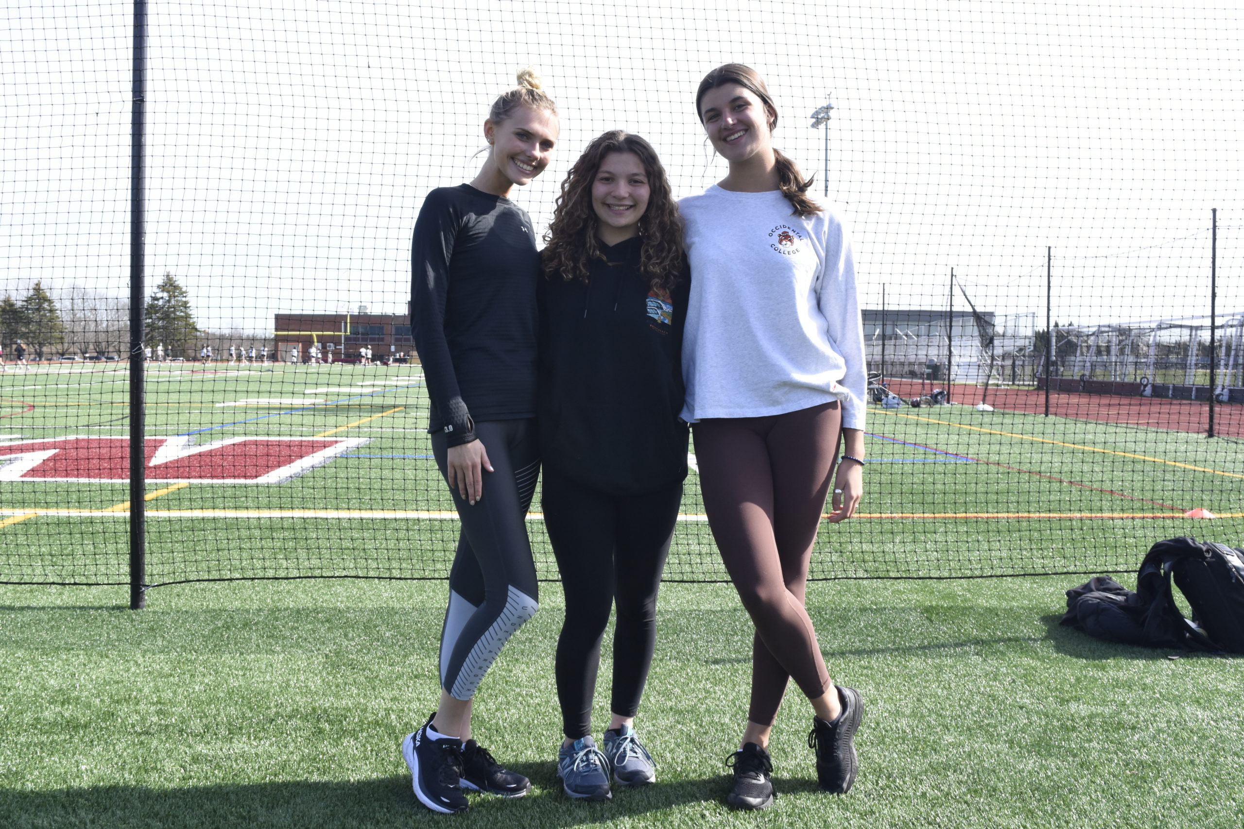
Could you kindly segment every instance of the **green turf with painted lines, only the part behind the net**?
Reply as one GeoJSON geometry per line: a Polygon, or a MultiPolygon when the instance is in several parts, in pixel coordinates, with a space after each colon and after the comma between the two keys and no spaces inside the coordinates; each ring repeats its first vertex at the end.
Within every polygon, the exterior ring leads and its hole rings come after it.
{"type": "MultiPolygon", "coordinates": [[[[0,374],[0,414],[11,415],[0,420],[0,434],[26,439],[124,435],[126,377],[101,367],[0,374]],[[25,404],[36,408],[24,411],[25,404]]],[[[195,364],[151,367],[149,435],[195,431],[197,441],[209,442],[341,430],[335,435],[369,442],[285,483],[197,482],[151,501],[148,580],[443,575],[457,532],[452,521],[170,515],[193,510],[450,511],[428,457],[428,404],[418,377],[418,367],[218,364],[213,372],[195,364]],[[322,390],[306,394],[311,389],[322,390]],[[254,399],[295,403],[218,405],[254,399]],[[301,405],[313,399],[327,404],[301,405]],[[357,423],[366,418],[374,419],[357,423]],[[350,424],[357,425],[342,429],[350,424]]],[[[1144,403],[1136,400],[1136,405],[1144,403]]],[[[873,408],[868,429],[876,436],[868,440],[873,462],[862,511],[922,517],[826,524],[815,578],[1120,572],[1132,569],[1159,538],[1197,534],[1235,543],[1244,538],[1244,517],[1214,523],[1182,517],[1193,507],[1240,515],[1244,442],[1238,440],[1003,410],[984,414],[962,405],[873,408]],[[995,517],[928,517],[960,513],[995,517]],[[1021,517],[1085,513],[1146,517],[1021,517]]],[[[148,491],[167,486],[153,481],[148,491]]],[[[127,500],[124,483],[0,481],[0,503],[7,510],[98,511],[127,500]]],[[[683,511],[703,513],[694,474],[683,511]]],[[[124,512],[117,512],[41,516],[2,527],[0,580],[41,577],[122,583],[127,579],[126,523],[124,512]]],[[[542,526],[532,522],[531,529],[540,572],[554,578],[542,526]]],[[[724,577],[707,524],[679,524],[668,574],[724,577]]]]}

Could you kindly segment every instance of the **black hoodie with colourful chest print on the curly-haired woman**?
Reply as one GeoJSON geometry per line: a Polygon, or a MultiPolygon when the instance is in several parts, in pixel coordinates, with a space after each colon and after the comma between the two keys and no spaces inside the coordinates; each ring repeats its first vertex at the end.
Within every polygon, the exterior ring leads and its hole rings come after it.
{"type": "Polygon", "coordinates": [[[540,456],[572,481],[642,495],[687,477],[682,344],[690,278],[671,295],[639,271],[642,239],[540,280],[540,456]]]}

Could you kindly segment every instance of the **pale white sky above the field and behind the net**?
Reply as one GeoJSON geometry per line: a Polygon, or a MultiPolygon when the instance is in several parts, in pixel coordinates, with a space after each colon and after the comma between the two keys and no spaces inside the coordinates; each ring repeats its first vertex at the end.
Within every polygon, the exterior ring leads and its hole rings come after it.
{"type": "MultiPolygon", "coordinates": [[[[554,164],[515,194],[542,229],[582,147],[626,128],[678,195],[723,174],[699,78],[769,80],[778,145],[817,175],[809,113],[833,94],[830,199],[865,303],[1061,321],[1244,311],[1242,15],[1234,4],[151,2],[151,283],[200,324],[404,311],[423,195],[470,179],[491,99],[532,65],[562,116],[554,164]],[[274,5],[287,7],[274,9],[274,5]]],[[[10,2],[0,32],[4,285],[128,278],[128,4],[10,2]]]]}

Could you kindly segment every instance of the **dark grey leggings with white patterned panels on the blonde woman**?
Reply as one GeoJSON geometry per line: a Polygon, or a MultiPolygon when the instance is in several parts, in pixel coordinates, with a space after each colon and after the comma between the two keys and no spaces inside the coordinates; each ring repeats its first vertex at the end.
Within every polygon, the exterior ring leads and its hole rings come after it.
{"type": "MultiPolygon", "coordinates": [[[[540,475],[535,421],[476,423],[475,435],[494,471],[483,472],[484,493],[474,506],[450,487],[462,533],[440,633],[440,686],[457,700],[475,696],[501,648],[540,607],[525,523],[540,475]]],[[[443,476],[448,452],[444,435],[433,435],[443,476]]]]}

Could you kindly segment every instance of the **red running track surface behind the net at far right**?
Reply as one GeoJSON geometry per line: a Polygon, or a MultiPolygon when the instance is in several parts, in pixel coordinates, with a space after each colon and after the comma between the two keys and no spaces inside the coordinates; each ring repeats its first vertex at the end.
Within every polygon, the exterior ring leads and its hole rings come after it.
{"type": "MultiPolygon", "coordinates": [[[[934,388],[944,389],[945,383],[921,383],[919,380],[892,379],[889,389],[906,399],[928,394],[934,388]]],[[[980,403],[984,389],[975,384],[954,383],[952,399],[964,405],[980,403]]],[[[1044,389],[989,389],[989,405],[1005,411],[1028,414],[1045,413],[1044,389]]],[[[1077,420],[1151,426],[1204,434],[1209,428],[1208,400],[1168,400],[1123,394],[1075,394],[1050,392],[1050,414],[1077,420]]],[[[1214,433],[1223,437],[1244,437],[1244,406],[1219,403],[1214,409],[1214,433]]]]}

